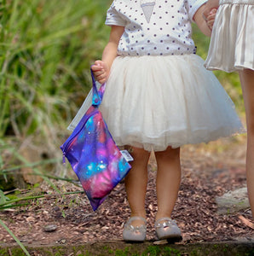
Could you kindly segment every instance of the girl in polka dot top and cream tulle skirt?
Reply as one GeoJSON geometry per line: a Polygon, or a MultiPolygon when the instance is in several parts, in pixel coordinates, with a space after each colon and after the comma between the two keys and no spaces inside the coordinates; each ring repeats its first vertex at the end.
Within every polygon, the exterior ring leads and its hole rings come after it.
{"type": "Polygon", "coordinates": [[[181,180],[180,147],[228,137],[243,127],[216,77],[195,55],[191,22],[205,35],[205,0],[115,0],[102,60],[92,70],[107,86],[101,112],[118,146],[134,160],[125,178],[130,219],[125,241],[144,241],[147,162],[157,160],[159,239],[181,238],[171,219],[181,180]]]}

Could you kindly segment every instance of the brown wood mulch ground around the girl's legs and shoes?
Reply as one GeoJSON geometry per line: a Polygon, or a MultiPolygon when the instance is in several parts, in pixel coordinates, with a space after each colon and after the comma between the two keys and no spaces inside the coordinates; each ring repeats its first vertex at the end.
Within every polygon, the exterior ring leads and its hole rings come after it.
{"type": "MultiPolygon", "coordinates": [[[[155,240],[156,163],[151,157],[147,185],[147,239],[155,240]]],[[[61,192],[82,191],[72,183],[54,182],[61,192]]],[[[173,218],[182,230],[183,242],[253,241],[250,209],[228,215],[216,213],[216,196],[245,186],[245,136],[222,139],[208,145],[182,148],[182,184],[173,218]]],[[[21,191],[26,194],[26,191],[21,191]]],[[[34,193],[55,193],[42,183],[34,193]]],[[[10,230],[28,244],[80,244],[87,241],[122,240],[124,221],[130,210],[124,184],[93,212],[84,194],[49,195],[29,206],[0,212],[10,230]],[[56,228],[47,232],[47,225],[56,228]]],[[[14,243],[0,226],[0,245],[14,243]]]]}

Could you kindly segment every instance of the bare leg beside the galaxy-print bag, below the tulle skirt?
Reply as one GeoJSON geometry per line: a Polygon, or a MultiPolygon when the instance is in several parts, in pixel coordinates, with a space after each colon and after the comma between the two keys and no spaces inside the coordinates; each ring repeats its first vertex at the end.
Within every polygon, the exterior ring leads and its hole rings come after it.
{"type": "MultiPolygon", "coordinates": [[[[130,205],[130,217],[138,216],[146,218],[145,199],[147,192],[147,163],[150,152],[142,148],[131,148],[133,161],[130,162],[131,169],[125,177],[125,189],[130,205]]],[[[139,225],[138,220],[133,221],[132,225],[139,225]]]]}

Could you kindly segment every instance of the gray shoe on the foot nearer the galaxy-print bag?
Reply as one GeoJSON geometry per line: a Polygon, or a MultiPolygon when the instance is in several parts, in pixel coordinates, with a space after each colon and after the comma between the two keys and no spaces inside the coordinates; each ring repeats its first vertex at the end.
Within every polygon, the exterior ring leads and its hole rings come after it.
{"type": "Polygon", "coordinates": [[[147,236],[147,220],[142,217],[131,217],[124,224],[123,238],[124,241],[145,241],[147,236]],[[144,224],[133,226],[134,220],[141,220],[144,224]]]}

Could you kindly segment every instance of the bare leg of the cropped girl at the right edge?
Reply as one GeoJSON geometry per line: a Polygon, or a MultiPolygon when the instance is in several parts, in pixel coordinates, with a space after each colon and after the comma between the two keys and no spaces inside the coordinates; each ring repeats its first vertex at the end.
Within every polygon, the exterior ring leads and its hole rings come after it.
{"type": "Polygon", "coordinates": [[[254,217],[254,70],[240,71],[240,83],[243,90],[247,124],[247,188],[251,212],[254,217]]]}

